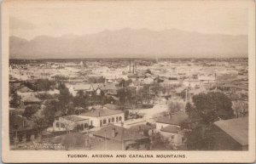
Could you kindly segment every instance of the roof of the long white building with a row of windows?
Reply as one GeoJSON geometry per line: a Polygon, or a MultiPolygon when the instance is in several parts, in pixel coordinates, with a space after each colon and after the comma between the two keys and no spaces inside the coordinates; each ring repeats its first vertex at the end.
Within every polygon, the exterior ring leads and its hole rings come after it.
{"type": "Polygon", "coordinates": [[[101,117],[101,116],[111,116],[116,114],[124,113],[121,110],[109,110],[107,108],[93,108],[88,112],[81,113],[79,116],[89,116],[89,117],[101,117]]]}

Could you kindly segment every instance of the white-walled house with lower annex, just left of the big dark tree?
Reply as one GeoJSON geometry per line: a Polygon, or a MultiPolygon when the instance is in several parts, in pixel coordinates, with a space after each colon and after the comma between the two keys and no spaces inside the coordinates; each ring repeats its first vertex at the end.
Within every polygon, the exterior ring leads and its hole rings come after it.
{"type": "Polygon", "coordinates": [[[172,116],[163,116],[156,121],[156,132],[176,146],[184,144],[185,138],[181,125],[188,115],[184,111],[177,111],[172,116]]]}

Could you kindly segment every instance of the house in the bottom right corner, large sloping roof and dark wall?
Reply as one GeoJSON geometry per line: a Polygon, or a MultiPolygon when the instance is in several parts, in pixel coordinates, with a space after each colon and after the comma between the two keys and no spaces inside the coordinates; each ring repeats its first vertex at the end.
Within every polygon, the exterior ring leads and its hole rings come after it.
{"type": "Polygon", "coordinates": [[[213,150],[248,150],[248,117],[213,123],[213,150]]]}

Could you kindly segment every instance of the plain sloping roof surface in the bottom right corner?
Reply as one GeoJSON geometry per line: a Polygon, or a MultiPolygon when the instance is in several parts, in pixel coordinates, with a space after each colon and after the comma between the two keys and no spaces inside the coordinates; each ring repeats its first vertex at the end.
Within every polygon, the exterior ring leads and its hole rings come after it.
{"type": "Polygon", "coordinates": [[[224,133],[230,135],[241,145],[248,145],[248,117],[234,118],[214,122],[224,133]]]}

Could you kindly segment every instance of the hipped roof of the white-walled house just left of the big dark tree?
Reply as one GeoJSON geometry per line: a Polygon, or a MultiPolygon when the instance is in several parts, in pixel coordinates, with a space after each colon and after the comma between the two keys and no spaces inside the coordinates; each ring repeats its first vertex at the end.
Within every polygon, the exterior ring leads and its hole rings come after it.
{"type": "Polygon", "coordinates": [[[161,116],[156,122],[180,126],[189,116],[184,111],[177,111],[172,116],[161,116]]]}

